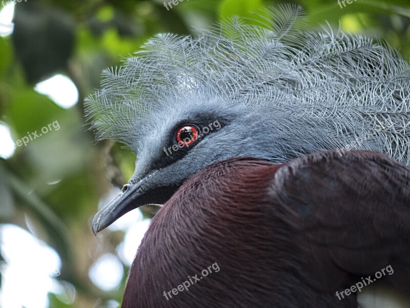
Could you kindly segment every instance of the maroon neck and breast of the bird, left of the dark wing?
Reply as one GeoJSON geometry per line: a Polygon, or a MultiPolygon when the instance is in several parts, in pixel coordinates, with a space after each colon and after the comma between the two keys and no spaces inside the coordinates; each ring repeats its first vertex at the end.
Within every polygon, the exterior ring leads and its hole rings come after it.
{"type": "MultiPolygon", "coordinates": [[[[241,285],[268,275],[261,264],[271,264],[272,256],[278,254],[270,251],[275,231],[260,196],[265,196],[272,177],[272,170],[265,167],[272,165],[264,161],[244,164],[241,172],[219,166],[206,177],[189,181],[160,209],[139,246],[124,307],[216,307],[212,302],[215,290],[222,294],[219,300],[234,303],[238,300],[234,295],[243,291],[241,285]],[[236,175],[226,176],[229,174],[236,175]],[[249,178],[244,184],[247,194],[242,187],[235,187],[235,177],[249,178]],[[254,256],[259,256],[257,263],[254,256]],[[241,273],[253,274],[248,277],[241,273]],[[190,283],[188,290],[176,292],[186,281],[190,283]],[[193,304],[198,292],[208,299],[193,304]]],[[[254,286],[261,302],[271,296],[264,291],[279,287],[270,277],[265,280],[267,285],[262,289],[254,286]]]]}

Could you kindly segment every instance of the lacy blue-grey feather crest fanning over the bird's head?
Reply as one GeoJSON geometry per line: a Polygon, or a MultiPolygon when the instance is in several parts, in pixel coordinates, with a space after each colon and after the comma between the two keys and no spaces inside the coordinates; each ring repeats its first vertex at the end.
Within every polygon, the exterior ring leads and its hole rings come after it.
{"type": "Polygon", "coordinates": [[[265,13],[267,25],[233,18],[198,38],[158,34],[105,70],[86,100],[97,138],[138,151],[167,112],[219,104],[274,129],[282,160],[350,146],[409,165],[410,67],[400,54],[330,27],[306,30],[300,7],[265,13]]]}

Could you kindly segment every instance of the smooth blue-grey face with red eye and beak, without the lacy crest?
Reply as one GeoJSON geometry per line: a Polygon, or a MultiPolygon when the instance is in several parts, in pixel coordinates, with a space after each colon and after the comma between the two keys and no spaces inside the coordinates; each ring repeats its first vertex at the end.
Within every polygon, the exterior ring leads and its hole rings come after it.
{"type": "Polygon", "coordinates": [[[136,207],[166,202],[185,180],[213,162],[272,156],[268,126],[254,123],[245,108],[221,104],[224,99],[200,92],[179,95],[169,102],[174,108],[149,115],[130,145],[137,153],[134,174],[97,213],[94,233],[136,207]]]}

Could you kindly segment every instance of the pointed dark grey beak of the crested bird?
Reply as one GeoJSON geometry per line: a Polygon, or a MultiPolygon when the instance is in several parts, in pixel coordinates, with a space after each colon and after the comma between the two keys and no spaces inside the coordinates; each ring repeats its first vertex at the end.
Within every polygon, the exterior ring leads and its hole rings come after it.
{"type": "Polygon", "coordinates": [[[166,202],[177,187],[155,187],[152,172],[136,183],[124,185],[121,192],[95,215],[92,223],[94,234],[108,227],[130,210],[150,203],[166,202]]]}

